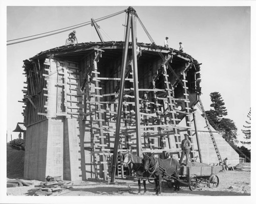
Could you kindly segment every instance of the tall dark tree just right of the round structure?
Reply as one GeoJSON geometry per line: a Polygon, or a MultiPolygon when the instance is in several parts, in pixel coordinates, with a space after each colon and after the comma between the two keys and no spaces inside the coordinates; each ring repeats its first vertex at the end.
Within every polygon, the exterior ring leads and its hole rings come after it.
{"type": "Polygon", "coordinates": [[[210,98],[212,102],[210,107],[213,109],[205,111],[210,125],[214,127],[228,143],[238,143],[238,129],[236,124],[234,124],[233,120],[229,118],[222,118],[227,115],[227,110],[224,106],[225,103],[221,94],[219,92],[212,92],[210,93],[210,98]]]}

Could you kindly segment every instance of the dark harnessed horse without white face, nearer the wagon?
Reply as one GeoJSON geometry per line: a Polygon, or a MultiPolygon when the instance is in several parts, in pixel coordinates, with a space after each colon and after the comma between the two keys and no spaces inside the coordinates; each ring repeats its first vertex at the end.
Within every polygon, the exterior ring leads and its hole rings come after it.
{"type": "Polygon", "coordinates": [[[162,192],[162,180],[166,177],[173,177],[176,181],[175,190],[180,189],[179,173],[180,173],[180,164],[178,160],[174,158],[169,159],[160,159],[155,158],[150,155],[143,155],[143,164],[145,171],[150,173],[150,176],[155,178],[156,183],[156,194],[161,194],[162,192]],[[178,179],[178,180],[177,180],[178,179]]]}

